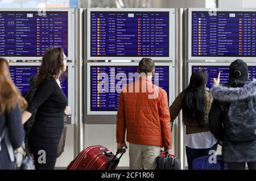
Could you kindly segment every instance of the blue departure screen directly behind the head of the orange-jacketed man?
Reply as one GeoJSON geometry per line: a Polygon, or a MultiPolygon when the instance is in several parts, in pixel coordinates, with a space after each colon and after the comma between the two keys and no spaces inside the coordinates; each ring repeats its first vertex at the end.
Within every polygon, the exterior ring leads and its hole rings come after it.
{"type": "MultiPolygon", "coordinates": [[[[127,85],[136,81],[137,78],[129,77],[129,73],[136,73],[138,66],[90,66],[90,111],[117,111],[119,93],[121,90],[116,89],[120,80],[124,81],[121,85],[127,85]],[[106,73],[109,77],[109,92],[100,92],[102,85],[100,85],[101,79],[100,73],[106,73]],[[120,78],[119,73],[125,73],[126,79],[120,78]],[[111,75],[114,77],[111,78],[111,75]]],[[[169,93],[169,66],[155,66],[155,73],[158,73],[159,87],[163,88],[167,95],[169,93]]],[[[152,82],[155,82],[155,76],[152,78],[152,82]]],[[[169,96],[169,95],[168,95],[169,96]]]]}

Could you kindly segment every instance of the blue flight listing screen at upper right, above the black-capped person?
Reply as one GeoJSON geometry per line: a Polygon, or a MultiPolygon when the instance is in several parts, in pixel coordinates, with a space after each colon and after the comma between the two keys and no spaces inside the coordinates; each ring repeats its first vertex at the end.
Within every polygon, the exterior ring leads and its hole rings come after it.
{"type": "Polygon", "coordinates": [[[192,57],[255,57],[256,12],[192,11],[192,57]]]}

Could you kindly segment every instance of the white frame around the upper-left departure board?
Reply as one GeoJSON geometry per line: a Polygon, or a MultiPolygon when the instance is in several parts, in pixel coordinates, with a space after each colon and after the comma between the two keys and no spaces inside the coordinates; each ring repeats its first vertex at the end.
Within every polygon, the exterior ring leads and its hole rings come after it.
{"type": "MultiPolygon", "coordinates": [[[[0,8],[0,12],[11,12],[11,11],[26,11],[26,12],[32,12],[32,11],[38,11],[38,12],[42,12],[42,11],[56,11],[56,12],[67,12],[68,13],[68,56],[67,56],[67,60],[72,60],[72,10],[73,9],[57,9],[57,8],[47,8],[47,9],[43,9],[43,8],[22,8],[22,9],[15,9],[15,8],[10,8],[10,9],[6,9],[6,8],[0,8]]],[[[6,58],[6,60],[42,60],[42,56],[35,56],[35,57],[26,57],[26,56],[13,56],[13,57],[4,57],[6,58]]]]}

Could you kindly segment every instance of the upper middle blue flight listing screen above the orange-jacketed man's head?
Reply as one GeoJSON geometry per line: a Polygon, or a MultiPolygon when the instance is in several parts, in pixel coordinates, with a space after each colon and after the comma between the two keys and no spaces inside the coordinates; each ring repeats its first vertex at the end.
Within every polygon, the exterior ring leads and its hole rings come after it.
{"type": "Polygon", "coordinates": [[[169,12],[92,11],[90,21],[92,57],[169,56],[169,12]]]}

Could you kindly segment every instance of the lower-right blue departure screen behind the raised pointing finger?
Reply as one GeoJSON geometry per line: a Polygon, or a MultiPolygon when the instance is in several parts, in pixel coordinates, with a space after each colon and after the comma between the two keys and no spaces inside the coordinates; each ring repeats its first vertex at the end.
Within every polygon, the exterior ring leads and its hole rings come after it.
{"type": "MultiPolygon", "coordinates": [[[[210,89],[213,86],[213,78],[218,77],[220,72],[220,83],[225,85],[229,81],[229,66],[192,66],[192,72],[203,69],[208,71],[207,87],[210,89]]],[[[256,66],[248,66],[249,81],[256,78],[256,66]]]]}

